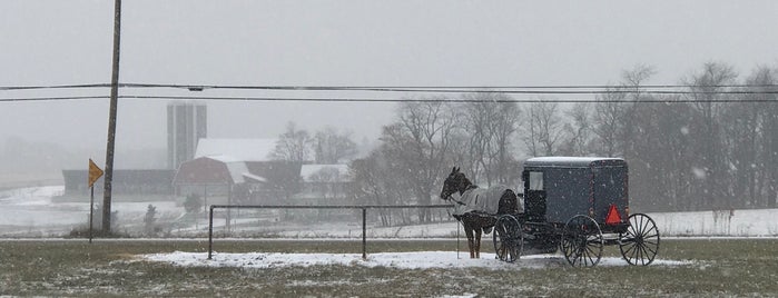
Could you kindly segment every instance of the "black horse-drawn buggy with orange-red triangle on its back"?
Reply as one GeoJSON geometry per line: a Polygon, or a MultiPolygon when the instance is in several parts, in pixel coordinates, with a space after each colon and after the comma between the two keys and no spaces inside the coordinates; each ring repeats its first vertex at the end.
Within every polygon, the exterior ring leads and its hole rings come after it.
{"type": "Polygon", "coordinates": [[[498,258],[561,249],[572,266],[600,261],[618,245],[631,265],[649,265],[659,230],[643,213],[629,212],[628,167],[618,158],[542,157],[524,162],[524,211],[500,215],[494,226],[498,258]]]}

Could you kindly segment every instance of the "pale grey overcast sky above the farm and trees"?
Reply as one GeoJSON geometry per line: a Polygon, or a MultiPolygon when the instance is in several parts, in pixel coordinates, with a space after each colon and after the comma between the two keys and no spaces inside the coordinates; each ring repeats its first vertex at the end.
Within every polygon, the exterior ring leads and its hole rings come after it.
{"type": "MultiPolygon", "coordinates": [[[[108,83],[112,0],[0,1],[0,86],[108,83]]],[[[778,66],[778,1],[126,0],[121,82],[252,86],[678,83],[707,61],[778,66]]],[[[0,98],[98,95],[2,91],[0,98]]],[[[122,95],[142,90],[120,91],[122,95]]],[[[148,93],[148,92],[146,92],[148,93]]],[[[206,90],[152,95],[225,96],[206,90]]],[[[270,93],[269,96],[305,96],[270,93]]],[[[349,96],[349,95],[346,95],[349,96]]],[[[400,97],[402,95],[382,95],[400,97]]],[[[105,150],[107,99],[0,102],[0,143],[105,150]]],[[[124,99],[117,150],[165,148],[165,101],[124,99]]],[[[275,137],[286,122],[375,139],[390,103],[208,102],[209,137],[275,137]],[[337,111],[337,112],[336,112],[337,111]]]]}

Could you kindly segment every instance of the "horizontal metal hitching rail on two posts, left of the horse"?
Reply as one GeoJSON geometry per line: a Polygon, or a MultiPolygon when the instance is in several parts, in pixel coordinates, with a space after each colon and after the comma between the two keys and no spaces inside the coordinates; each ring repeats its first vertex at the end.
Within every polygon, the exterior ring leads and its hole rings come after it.
{"type": "Polygon", "coordinates": [[[453,205],[331,205],[331,206],[295,206],[295,205],[211,205],[208,215],[208,259],[214,255],[214,210],[215,209],[362,209],[362,258],[367,259],[367,209],[436,209],[453,208],[453,205]]]}

